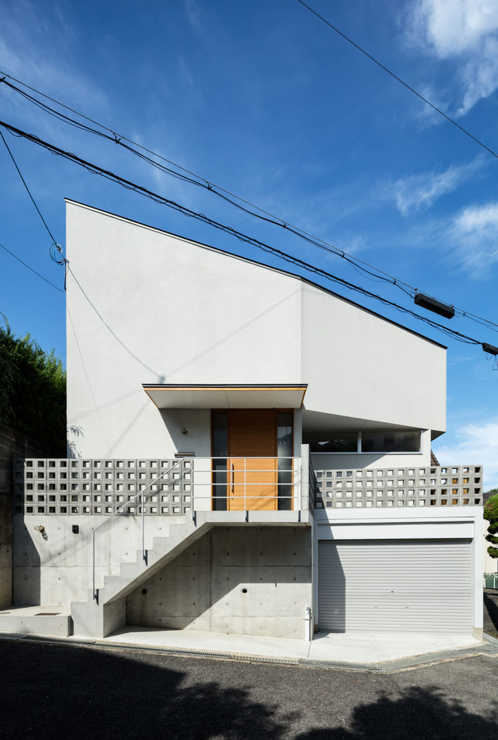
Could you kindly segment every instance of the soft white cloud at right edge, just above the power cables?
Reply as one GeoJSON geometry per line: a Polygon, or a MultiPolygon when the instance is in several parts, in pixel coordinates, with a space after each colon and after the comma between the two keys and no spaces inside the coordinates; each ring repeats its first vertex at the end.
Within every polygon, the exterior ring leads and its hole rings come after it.
{"type": "Polygon", "coordinates": [[[453,233],[462,266],[474,277],[490,275],[490,266],[498,262],[498,202],[460,211],[453,233]]]}

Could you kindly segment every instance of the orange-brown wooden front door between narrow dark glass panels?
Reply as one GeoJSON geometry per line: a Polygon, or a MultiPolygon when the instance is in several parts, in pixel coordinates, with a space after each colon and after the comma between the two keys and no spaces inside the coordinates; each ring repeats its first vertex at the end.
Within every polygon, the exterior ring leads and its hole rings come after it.
{"type": "Polygon", "coordinates": [[[229,511],[277,509],[275,425],[272,408],[230,411],[229,511]]]}

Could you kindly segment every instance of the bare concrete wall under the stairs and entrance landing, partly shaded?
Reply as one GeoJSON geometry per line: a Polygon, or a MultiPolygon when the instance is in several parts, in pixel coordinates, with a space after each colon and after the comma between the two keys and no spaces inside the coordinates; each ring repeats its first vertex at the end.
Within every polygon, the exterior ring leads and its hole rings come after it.
{"type": "Polygon", "coordinates": [[[127,624],[301,639],[309,527],[215,527],[127,598],[127,624]]]}

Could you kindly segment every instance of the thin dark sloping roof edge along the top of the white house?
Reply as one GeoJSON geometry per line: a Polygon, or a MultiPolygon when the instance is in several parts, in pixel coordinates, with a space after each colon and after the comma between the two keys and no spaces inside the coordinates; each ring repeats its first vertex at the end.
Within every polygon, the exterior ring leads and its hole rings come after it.
{"type": "Polygon", "coordinates": [[[309,280],[307,277],[303,277],[303,275],[297,275],[295,272],[288,272],[287,270],[280,269],[279,267],[272,267],[270,265],[266,265],[264,262],[259,262],[258,260],[252,260],[249,257],[241,257],[240,255],[235,255],[233,252],[227,252],[226,249],[220,249],[218,246],[211,246],[210,244],[205,244],[201,241],[190,239],[189,237],[182,236],[181,234],[175,234],[175,232],[166,232],[164,229],[158,229],[157,226],[150,226],[148,223],[142,223],[141,221],[135,221],[134,219],[127,218],[126,216],[120,216],[117,213],[112,213],[110,211],[104,211],[101,208],[95,208],[95,206],[89,206],[87,203],[80,203],[79,201],[73,201],[71,198],[64,198],[64,201],[66,201],[66,203],[71,203],[74,206],[81,206],[82,208],[86,208],[90,211],[95,211],[96,213],[102,213],[106,216],[110,216],[111,218],[117,218],[119,221],[127,221],[128,223],[133,223],[135,224],[135,226],[141,226],[143,229],[150,229],[151,231],[155,231],[160,234],[166,234],[167,236],[172,236],[172,237],[175,237],[176,239],[188,241],[191,244],[196,244],[197,246],[200,246],[202,249],[210,249],[212,252],[219,252],[221,255],[225,255],[226,257],[231,257],[235,260],[242,260],[243,262],[248,262],[250,264],[257,265],[258,267],[263,267],[264,269],[272,270],[272,272],[279,272],[280,275],[287,275],[288,277],[294,277],[295,280],[301,280],[301,282],[303,283],[308,283],[308,285],[311,285],[314,288],[317,288],[318,290],[323,291],[324,293],[333,295],[335,298],[338,298],[339,300],[343,300],[345,301],[345,303],[349,303],[351,306],[355,306],[357,309],[360,309],[361,311],[365,311],[366,313],[371,314],[372,316],[375,316],[383,321],[386,321],[387,323],[393,324],[393,326],[397,326],[400,329],[403,329],[405,332],[414,334],[416,337],[420,337],[420,339],[423,339],[426,342],[430,342],[431,344],[434,344],[437,347],[441,347],[442,349],[448,349],[448,347],[445,346],[444,344],[441,344],[440,342],[437,342],[436,340],[431,339],[430,337],[425,337],[424,334],[415,332],[414,329],[408,329],[408,326],[403,326],[403,324],[400,324],[397,321],[393,321],[392,319],[388,319],[386,316],[383,316],[382,314],[377,314],[377,312],[372,311],[371,309],[367,309],[366,306],[362,306],[361,303],[356,303],[354,300],[351,300],[350,298],[346,298],[345,296],[340,295],[340,293],[335,293],[333,290],[330,290],[329,288],[324,288],[323,285],[320,285],[319,283],[314,283],[313,280],[309,280]]]}

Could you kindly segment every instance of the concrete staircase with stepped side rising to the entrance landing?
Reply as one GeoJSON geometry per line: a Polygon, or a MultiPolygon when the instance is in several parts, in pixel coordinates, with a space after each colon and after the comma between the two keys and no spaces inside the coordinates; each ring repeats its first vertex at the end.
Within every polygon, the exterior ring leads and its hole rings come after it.
{"type": "Polygon", "coordinates": [[[142,583],[155,575],[168,562],[184,551],[192,542],[212,528],[211,512],[198,512],[195,520],[169,526],[169,536],[154,537],[152,549],[137,551],[135,562],[121,563],[121,571],[115,576],[105,576],[104,588],[97,589],[97,599],[92,589],[86,602],[73,602],[73,633],[85,637],[106,637],[126,625],[127,596],[142,583]]]}

